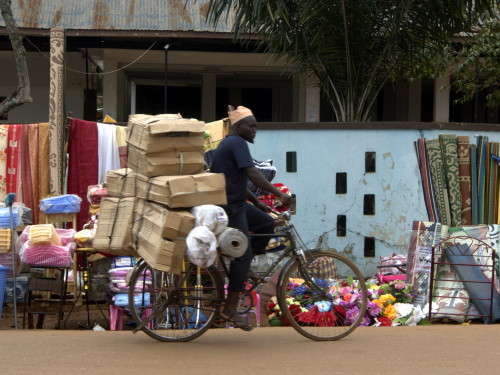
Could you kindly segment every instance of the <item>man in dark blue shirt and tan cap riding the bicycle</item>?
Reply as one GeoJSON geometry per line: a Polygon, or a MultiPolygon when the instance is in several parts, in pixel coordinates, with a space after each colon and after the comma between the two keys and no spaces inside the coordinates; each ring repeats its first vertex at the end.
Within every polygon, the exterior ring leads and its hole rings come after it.
{"type": "MultiPolygon", "coordinates": [[[[224,173],[226,177],[228,226],[241,230],[246,235],[271,234],[274,232],[274,219],[268,215],[267,205],[259,201],[247,188],[248,180],[257,187],[275,194],[285,206],[291,203],[292,197],[283,193],[255,167],[247,142],[253,143],[257,133],[257,120],[250,109],[239,106],[228,112],[231,124],[230,134],[222,140],[213,157],[210,167],[212,173],[224,173]],[[247,200],[253,203],[247,203],[247,200]]],[[[229,285],[226,304],[221,318],[233,323],[245,331],[252,326],[238,314],[239,294],[245,289],[244,282],[249,276],[250,264],[254,255],[265,251],[269,238],[252,238],[246,252],[231,261],[229,269],[229,285]]]]}

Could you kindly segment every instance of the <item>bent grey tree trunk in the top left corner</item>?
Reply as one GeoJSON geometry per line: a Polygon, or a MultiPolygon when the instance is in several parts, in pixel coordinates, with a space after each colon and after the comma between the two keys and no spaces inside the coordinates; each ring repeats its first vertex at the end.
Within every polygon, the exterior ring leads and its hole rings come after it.
{"type": "Polygon", "coordinates": [[[17,69],[17,90],[0,103],[0,116],[24,103],[32,101],[30,96],[30,79],[26,64],[26,50],[23,46],[23,37],[17,30],[16,21],[12,15],[11,0],[0,0],[0,11],[5,21],[5,27],[14,50],[17,69]]]}

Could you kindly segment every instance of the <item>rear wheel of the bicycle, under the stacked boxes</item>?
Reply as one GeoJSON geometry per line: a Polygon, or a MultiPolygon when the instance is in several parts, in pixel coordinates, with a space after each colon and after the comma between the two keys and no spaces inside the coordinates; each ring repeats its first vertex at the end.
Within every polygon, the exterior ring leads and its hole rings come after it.
{"type": "Polygon", "coordinates": [[[193,340],[210,328],[219,313],[224,289],[217,269],[185,265],[185,271],[175,275],[142,262],[130,277],[132,318],[156,340],[193,340]]]}

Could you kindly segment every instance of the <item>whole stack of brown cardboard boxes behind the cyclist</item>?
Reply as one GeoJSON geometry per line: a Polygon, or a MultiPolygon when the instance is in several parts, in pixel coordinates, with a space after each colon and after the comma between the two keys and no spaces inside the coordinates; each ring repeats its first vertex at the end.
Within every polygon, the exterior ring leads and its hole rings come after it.
{"type": "Polygon", "coordinates": [[[108,172],[94,248],[181,272],[190,209],[226,203],[224,175],[204,172],[203,135],[203,122],[179,115],[129,117],[129,168],[108,172]]]}

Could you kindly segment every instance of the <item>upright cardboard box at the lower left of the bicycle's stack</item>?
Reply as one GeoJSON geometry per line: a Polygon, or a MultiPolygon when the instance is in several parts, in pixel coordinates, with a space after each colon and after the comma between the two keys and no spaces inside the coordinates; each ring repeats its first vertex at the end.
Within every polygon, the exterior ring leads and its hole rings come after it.
{"type": "Polygon", "coordinates": [[[132,224],[136,198],[103,198],[92,247],[115,255],[137,256],[132,224]]]}

